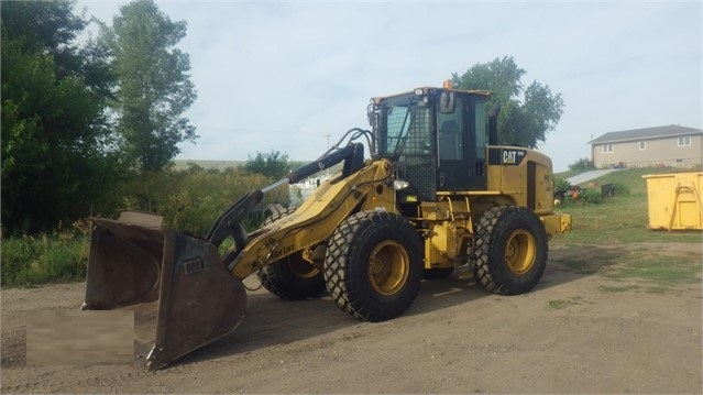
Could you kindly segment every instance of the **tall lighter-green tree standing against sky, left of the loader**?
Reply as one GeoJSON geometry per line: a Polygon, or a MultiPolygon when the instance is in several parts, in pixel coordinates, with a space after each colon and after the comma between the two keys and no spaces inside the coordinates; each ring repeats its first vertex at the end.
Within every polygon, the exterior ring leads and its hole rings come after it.
{"type": "Polygon", "coordinates": [[[186,22],[173,22],[152,0],[122,6],[101,30],[119,80],[113,110],[122,147],[142,171],[162,171],[178,143],[197,139],[183,117],[196,99],[190,58],[175,47],[185,35],[186,22]]]}

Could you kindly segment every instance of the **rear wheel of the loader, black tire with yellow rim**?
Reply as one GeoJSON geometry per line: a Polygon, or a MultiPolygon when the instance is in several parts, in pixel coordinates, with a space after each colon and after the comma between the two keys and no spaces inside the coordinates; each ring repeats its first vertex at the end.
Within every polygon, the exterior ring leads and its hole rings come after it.
{"type": "Polygon", "coordinates": [[[539,217],[518,206],[493,207],[475,227],[474,277],[487,292],[518,295],[539,283],[547,265],[547,232],[539,217]]]}

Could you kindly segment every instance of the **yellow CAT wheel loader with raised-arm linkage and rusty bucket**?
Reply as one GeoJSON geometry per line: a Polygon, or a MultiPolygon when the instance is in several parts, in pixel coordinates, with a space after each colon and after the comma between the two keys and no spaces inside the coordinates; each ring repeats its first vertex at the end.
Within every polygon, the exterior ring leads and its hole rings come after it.
{"type": "Polygon", "coordinates": [[[132,308],[135,320],[155,322],[138,330],[154,370],[232,331],[246,308],[242,281],[254,273],[282,298],[327,292],[370,321],[404,314],[424,278],[530,290],[549,238],[571,229],[571,217],[553,212],[547,156],[497,145],[499,107],[486,111],[488,98],[450,84],[373,98],[371,131],[352,129],[317,161],[252,190],[204,238],[147,213],[92,218],[83,308],[132,308]],[[266,193],[340,163],[299,207],[273,208],[260,229],[244,230],[266,193]]]}

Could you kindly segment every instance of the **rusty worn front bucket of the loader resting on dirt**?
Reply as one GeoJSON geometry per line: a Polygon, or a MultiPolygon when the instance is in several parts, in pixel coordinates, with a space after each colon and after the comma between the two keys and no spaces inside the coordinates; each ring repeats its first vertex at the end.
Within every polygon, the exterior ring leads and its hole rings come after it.
{"type": "Polygon", "coordinates": [[[149,370],[223,337],[241,322],[246,292],[213,244],[161,229],[160,218],[147,213],[91,221],[83,309],[133,309],[136,344],[151,345],[149,370]]]}

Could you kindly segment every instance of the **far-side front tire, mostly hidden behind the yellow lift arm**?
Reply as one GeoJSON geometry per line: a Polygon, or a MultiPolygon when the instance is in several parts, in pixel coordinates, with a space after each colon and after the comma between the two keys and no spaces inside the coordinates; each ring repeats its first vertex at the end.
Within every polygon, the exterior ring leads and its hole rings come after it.
{"type": "MultiPolygon", "coordinates": [[[[273,223],[293,211],[295,208],[276,212],[266,218],[262,227],[273,223]]],[[[300,252],[262,267],[257,276],[266,290],[285,300],[316,298],[325,292],[322,272],[304,260],[300,252]]]]}

